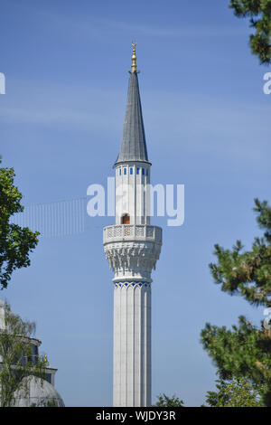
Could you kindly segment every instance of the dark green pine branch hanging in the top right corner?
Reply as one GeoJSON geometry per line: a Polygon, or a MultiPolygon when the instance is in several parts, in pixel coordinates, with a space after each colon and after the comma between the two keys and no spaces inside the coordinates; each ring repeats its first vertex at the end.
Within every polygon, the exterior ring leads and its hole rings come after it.
{"type": "Polygon", "coordinates": [[[238,17],[249,17],[255,33],[250,35],[250,48],[260,63],[271,62],[271,0],[230,0],[229,7],[238,17]]]}

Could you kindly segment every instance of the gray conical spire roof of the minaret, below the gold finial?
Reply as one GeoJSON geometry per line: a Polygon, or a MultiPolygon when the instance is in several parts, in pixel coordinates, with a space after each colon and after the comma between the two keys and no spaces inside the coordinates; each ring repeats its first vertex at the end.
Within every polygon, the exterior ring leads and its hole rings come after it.
{"type": "Polygon", "coordinates": [[[121,145],[115,165],[126,161],[149,162],[145,144],[145,130],[136,66],[134,71],[132,66],[132,71],[130,71],[130,73],[126,103],[126,118],[123,126],[121,145]]]}

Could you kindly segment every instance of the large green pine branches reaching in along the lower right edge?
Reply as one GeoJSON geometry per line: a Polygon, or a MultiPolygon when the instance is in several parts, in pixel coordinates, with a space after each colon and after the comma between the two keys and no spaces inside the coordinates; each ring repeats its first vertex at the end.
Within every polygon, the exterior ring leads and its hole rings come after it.
{"type": "MultiPolygon", "coordinates": [[[[215,246],[217,263],[210,264],[215,283],[230,295],[244,297],[254,306],[271,306],[271,208],[255,200],[257,222],[265,230],[264,237],[255,238],[252,249],[244,251],[240,241],[232,250],[215,246]]],[[[267,328],[266,328],[267,327],[267,328]]],[[[220,377],[232,380],[247,377],[256,385],[265,385],[264,402],[271,406],[271,329],[253,326],[239,316],[238,326],[206,324],[201,331],[201,343],[220,377]]]]}

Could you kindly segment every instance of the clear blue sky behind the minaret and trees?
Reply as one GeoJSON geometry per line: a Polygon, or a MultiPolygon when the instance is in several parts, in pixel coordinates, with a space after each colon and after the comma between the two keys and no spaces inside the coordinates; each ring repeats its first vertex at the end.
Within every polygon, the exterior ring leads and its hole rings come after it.
{"type": "MultiPolygon", "coordinates": [[[[2,0],[1,154],[23,203],[86,196],[113,176],[126,107],[131,42],[152,183],[185,184],[185,222],[164,228],[153,273],[153,402],[175,393],[199,406],[215,387],[202,350],[206,322],[256,324],[263,309],[222,293],[213,245],[250,247],[253,199],[270,194],[270,102],[248,47],[248,21],[228,1],[2,0]]],[[[0,293],[37,324],[67,406],[112,403],[113,286],[102,246],[112,217],[79,235],[41,239],[32,265],[0,293]]]]}

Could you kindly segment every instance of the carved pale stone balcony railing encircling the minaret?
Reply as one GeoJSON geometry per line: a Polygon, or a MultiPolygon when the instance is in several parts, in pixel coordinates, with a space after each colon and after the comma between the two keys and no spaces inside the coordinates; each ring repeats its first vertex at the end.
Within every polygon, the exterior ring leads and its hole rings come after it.
{"type": "Polygon", "coordinates": [[[162,245],[162,228],[145,224],[116,224],[105,227],[103,244],[115,241],[150,241],[162,245]]]}

